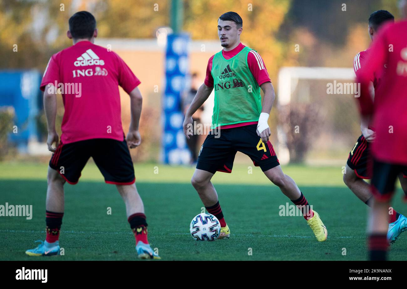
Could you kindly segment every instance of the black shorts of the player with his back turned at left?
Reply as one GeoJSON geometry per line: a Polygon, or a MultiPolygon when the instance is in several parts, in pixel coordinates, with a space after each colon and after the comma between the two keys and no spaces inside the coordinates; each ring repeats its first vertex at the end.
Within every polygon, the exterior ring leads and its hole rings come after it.
{"type": "Polygon", "coordinates": [[[108,184],[130,185],[136,180],[126,140],[94,138],[69,144],[59,143],[49,166],[69,183],[76,184],[92,157],[108,184]]]}

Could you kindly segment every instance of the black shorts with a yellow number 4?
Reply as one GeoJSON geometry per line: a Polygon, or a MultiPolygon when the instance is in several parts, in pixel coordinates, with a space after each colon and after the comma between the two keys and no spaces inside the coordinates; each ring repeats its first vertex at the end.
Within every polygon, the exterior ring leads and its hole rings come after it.
{"type": "Polygon", "coordinates": [[[219,129],[217,136],[211,130],[199,151],[197,169],[213,174],[217,171],[232,173],[234,156],[238,151],[248,155],[263,172],[280,165],[271,142],[263,143],[256,129],[256,124],[219,129]]]}

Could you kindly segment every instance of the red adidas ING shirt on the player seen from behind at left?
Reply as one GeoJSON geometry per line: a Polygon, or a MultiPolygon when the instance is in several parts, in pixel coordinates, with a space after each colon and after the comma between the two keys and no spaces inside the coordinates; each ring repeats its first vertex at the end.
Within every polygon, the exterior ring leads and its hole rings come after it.
{"type": "Polygon", "coordinates": [[[118,85],[130,93],[140,81],[116,53],[80,41],[50,58],[40,89],[48,90],[49,83],[64,87],[61,142],[124,140],[118,85]]]}

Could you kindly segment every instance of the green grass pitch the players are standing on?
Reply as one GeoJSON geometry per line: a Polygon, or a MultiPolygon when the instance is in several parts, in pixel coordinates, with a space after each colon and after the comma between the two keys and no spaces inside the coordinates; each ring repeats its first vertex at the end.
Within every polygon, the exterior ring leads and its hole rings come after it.
{"type": "MultiPolygon", "coordinates": [[[[194,168],[135,164],[149,241],[162,260],[366,260],[367,206],[343,184],[341,166],[282,166],[328,229],[328,240],[319,243],[303,217],[279,215],[279,206],[291,202],[259,168],[248,173],[248,165],[235,165],[232,174],[216,173],[212,179],[230,239],[198,242],[189,233],[202,207],[190,184],[194,168]]],[[[0,205],[33,205],[31,220],[0,217],[0,260],[137,260],[125,205],[93,163],[77,185],[65,185],[60,236],[65,255],[26,256],[24,251],[45,237],[46,171],[47,164],[0,163],[0,205]]],[[[405,214],[402,194],[398,189],[394,208],[405,214]]],[[[389,259],[407,259],[407,233],[391,246],[389,259]]]]}

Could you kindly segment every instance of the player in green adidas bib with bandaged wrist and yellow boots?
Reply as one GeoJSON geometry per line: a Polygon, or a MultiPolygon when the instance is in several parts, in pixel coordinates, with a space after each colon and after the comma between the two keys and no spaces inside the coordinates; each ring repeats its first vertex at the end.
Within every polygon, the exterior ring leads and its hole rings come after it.
{"type": "Polygon", "coordinates": [[[227,12],[218,20],[218,36],[223,50],[210,57],[205,83],[199,88],[186,112],[183,128],[187,138],[193,135],[192,115],[204,104],[214,89],[212,130],[199,152],[192,185],[206,210],[221,224],[219,238],[229,238],[217,192],[210,182],[215,172],[232,172],[237,151],[248,155],[269,180],[278,186],[302,211],[318,241],[325,241],[328,231],[293,179],[285,175],[269,141],[267,120],[275,99],[274,88],[260,55],[240,42],[243,20],[227,12]],[[264,92],[261,103],[260,88],[264,92]]]}

